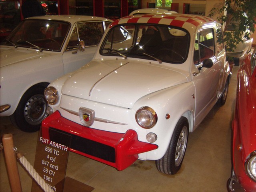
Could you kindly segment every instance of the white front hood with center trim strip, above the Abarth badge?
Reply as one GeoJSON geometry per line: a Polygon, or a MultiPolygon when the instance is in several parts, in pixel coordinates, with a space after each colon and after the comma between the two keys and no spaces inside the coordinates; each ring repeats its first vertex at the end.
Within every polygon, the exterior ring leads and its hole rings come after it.
{"type": "Polygon", "coordinates": [[[182,72],[161,65],[129,59],[94,60],[69,76],[62,94],[132,108],[147,94],[185,82],[182,72]]]}

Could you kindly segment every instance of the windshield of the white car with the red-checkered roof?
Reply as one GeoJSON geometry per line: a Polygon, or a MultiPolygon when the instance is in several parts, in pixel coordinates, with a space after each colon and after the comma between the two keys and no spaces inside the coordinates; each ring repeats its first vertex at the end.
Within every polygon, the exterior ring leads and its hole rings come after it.
{"type": "Polygon", "coordinates": [[[143,58],[180,64],[185,62],[189,50],[188,32],[165,25],[122,25],[111,28],[100,54],[143,58]]]}

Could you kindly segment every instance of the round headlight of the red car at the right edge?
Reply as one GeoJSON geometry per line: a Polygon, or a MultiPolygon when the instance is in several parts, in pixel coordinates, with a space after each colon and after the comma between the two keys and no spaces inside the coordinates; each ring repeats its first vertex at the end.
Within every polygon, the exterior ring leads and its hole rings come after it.
{"type": "Polygon", "coordinates": [[[247,156],[245,170],[248,176],[256,182],[256,151],[247,156]]]}

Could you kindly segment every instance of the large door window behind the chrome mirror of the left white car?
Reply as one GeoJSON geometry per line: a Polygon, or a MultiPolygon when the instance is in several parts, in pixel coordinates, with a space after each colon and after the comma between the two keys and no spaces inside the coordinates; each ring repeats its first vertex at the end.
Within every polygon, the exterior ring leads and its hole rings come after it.
{"type": "Polygon", "coordinates": [[[85,22],[77,25],[78,38],[83,40],[85,46],[98,45],[104,34],[102,22],[85,22]]]}

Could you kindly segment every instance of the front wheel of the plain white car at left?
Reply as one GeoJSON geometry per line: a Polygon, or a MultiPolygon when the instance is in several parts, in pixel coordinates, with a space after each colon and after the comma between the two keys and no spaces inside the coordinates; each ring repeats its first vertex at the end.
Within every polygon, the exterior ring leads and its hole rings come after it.
{"type": "Polygon", "coordinates": [[[30,88],[22,96],[14,114],[12,124],[24,132],[36,132],[46,118],[48,104],[44,99],[44,86],[30,88]]]}

